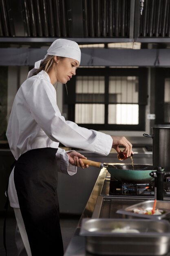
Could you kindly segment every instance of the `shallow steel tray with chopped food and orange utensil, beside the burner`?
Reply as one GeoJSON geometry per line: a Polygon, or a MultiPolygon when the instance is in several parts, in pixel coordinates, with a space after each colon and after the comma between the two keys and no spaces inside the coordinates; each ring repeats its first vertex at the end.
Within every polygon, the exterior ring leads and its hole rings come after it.
{"type": "Polygon", "coordinates": [[[165,201],[157,200],[156,208],[165,211],[165,213],[161,215],[146,215],[146,214],[139,214],[139,213],[133,212],[133,210],[136,208],[151,210],[153,208],[153,204],[154,204],[154,200],[147,200],[144,202],[140,202],[138,204],[133,204],[124,209],[118,209],[116,213],[121,213],[128,216],[135,216],[139,218],[150,218],[150,219],[157,219],[157,220],[170,218],[170,202],[165,202],[165,201]]]}

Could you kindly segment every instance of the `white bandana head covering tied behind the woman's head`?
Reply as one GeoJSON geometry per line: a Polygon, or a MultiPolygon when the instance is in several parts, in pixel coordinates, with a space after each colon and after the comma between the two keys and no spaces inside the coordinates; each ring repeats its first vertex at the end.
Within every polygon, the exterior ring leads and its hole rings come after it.
{"type": "Polygon", "coordinates": [[[29,71],[27,78],[31,77],[36,69],[40,68],[41,62],[44,61],[48,55],[73,58],[78,61],[79,64],[81,61],[81,51],[76,42],[67,39],[57,39],[51,44],[45,57],[42,60],[35,62],[34,68],[29,71]]]}

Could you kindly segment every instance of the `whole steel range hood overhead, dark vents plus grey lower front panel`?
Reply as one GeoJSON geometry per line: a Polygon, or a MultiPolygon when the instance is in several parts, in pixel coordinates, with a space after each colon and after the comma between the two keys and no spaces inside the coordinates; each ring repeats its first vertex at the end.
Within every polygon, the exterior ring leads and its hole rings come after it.
{"type": "Polygon", "coordinates": [[[82,48],[84,66],[169,67],[170,0],[144,0],[142,15],[140,0],[0,0],[0,65],[33,65],[57,38],[105,45],[82,48]]]}

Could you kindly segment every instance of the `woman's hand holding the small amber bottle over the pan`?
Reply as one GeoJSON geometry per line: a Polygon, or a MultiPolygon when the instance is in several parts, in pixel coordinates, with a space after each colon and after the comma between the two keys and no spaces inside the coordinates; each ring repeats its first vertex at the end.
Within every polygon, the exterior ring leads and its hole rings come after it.
{"type": "Polygon", "coordinates": [[[124,152],[126,152],[126,155],[128,157],[130,157],[131,154],[133,154],[132,144],[130,143],[130,141],[126,139],[126,137],[124,136],[111,136],[111,137],[113,139],[112,148],[114,148],[117,151],[117,153],[121,152],[119,146],[124,146],[124,152]]]}

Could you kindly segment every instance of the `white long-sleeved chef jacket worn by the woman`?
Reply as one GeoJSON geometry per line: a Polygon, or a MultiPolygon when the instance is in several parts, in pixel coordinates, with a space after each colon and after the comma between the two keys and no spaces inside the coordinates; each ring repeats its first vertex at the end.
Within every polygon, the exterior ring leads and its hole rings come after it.
{"type": "MultiPolygon", "coordinates": [[[[59,142],[66,147],[81,148],[101,155],[108,155],[113,144],[110,135],[82,128],[64,119],[57,106],[55,88],[44,70],[26,79],[20,86],[13,102],[6,135],[16,160],[31,149],[58,148],[59,142]]],[[[65,150],[58,148],[56,159],[58,171],[69,175],[76,173],[77,167],[69,164],[65,150]]],[[[13,171],[9,177],[8,195],[11,207],[19,208],[13,171]]]]}

